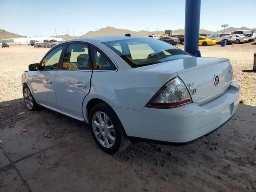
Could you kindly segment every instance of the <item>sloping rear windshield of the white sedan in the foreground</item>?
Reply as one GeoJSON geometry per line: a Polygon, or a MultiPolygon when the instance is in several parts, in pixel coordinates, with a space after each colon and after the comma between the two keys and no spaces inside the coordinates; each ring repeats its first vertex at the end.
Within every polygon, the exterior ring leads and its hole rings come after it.
{"type": "Polygon", "coordinates": [[[104,42],[132,68],[192,57],[187,52],[153,38],[104,42]]]}

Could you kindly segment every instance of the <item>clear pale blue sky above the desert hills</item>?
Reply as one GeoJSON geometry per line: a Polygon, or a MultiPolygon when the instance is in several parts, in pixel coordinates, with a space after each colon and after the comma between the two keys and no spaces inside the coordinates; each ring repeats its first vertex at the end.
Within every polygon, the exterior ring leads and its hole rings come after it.
{"type": "MultiPolygon", "coordinates": [[[[200,28],[256,28],[256,0],[201,0],[200,28]]],[[[0,29],[24,36],[81,36],[112,26],[133,31],[184,29],[185,0],[0,0],[0,29]]]]}

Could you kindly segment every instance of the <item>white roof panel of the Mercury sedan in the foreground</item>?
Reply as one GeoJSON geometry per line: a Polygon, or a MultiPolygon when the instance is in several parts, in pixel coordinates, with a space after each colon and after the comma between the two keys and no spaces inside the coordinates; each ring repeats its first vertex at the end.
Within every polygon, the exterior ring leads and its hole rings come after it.
{"type": "Polygon", "coordinates": [[[72,39],[72,40],[66,40],[63,43],[66,42],[72,42],[72,41],[85,41],[86,40],[96,40],[98,42],[109,42],[109,41],[118,41],[118,40],[126,40],[126,39],[136,39],[136,38],[146,38],[144,36],[125,36],[125,35],[102,35],[102,36],[93,36],[93,37],[86,37],[86,38],[80,38],[80,39],[72,39]]]}

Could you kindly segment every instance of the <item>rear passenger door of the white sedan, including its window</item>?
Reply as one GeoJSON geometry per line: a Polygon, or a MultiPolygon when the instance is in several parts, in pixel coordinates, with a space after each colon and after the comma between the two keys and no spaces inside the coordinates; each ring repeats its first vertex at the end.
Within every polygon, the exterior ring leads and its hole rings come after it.
{"type": "Polygon", "coordinates": [[[63,114],[84,120],[82,103],[90,91],[91,76],[92,64],[88,44],[69,43],[55,77],[56,98],[63,114]]]}

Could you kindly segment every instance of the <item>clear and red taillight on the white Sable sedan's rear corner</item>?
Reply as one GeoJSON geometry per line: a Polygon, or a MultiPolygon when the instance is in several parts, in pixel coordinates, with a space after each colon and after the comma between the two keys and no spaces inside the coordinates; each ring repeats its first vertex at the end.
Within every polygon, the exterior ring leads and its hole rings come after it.
{"type": "Polygon", "coordinates": [[[165,84],[148,102],[149,107],[171,108],[192,102],[190,94],[180,78],[176,77],[165,84]]]}

